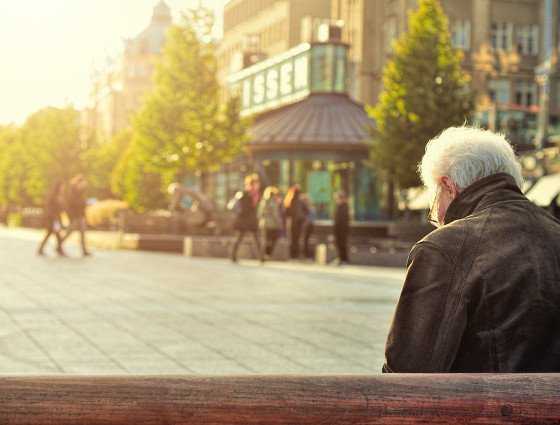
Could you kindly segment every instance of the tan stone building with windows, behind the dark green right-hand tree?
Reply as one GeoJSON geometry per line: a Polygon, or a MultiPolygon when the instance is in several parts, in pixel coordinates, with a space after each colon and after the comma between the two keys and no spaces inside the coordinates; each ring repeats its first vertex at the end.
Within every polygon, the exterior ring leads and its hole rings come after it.
{"type": "MultiPolygon", "coordinates": [[[[471,76],[476,124],[505,131],[517,145],[534,145],[539,143],[541,108],[550,114],[547,134],[560,134],[559,3],[440,0],[440,4],[449,19],[452,42],[464,53],[463,69],[471,76]]],[[[377,103],[383,66],[393,57],[392,41],[407,31],[408,11],[417,6],[417,0],[332,0],[331,17],[344,22],[342,41],[350,46],[353,99],[377,103]]]]}

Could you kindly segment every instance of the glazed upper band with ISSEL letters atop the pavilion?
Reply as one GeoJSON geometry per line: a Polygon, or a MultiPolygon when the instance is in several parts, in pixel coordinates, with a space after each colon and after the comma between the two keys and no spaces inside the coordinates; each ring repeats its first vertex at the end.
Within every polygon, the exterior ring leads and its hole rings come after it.
{"type": "Polygon", "coordinates": [[[345,92],[344,45],[301,44],[228,78],[241,115],[292,103],[312,92],[345,92]]]}

